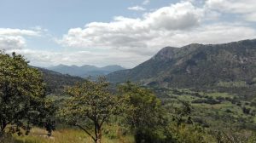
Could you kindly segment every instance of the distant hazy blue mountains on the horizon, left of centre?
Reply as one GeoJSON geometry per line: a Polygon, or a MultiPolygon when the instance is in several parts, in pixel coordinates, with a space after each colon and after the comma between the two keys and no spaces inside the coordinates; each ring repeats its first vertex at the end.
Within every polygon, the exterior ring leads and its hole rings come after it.
{"type": "Polygon", "coordinates": [[[60,72],[62,74],[69,74],[71,76],[78,76],[78,77],[96,77],[96,76],[102,76],[107,75],[110,72],[116,72],[119,70],[124,70],[122,66],[104,66],[104,67],[97,67],[97,66],[90,66],[90,65],[84,65],[84,66],[65,66],[65,65],[59,65],[59,66],[51,66],[48,68],[51,71],[60,72]]]}

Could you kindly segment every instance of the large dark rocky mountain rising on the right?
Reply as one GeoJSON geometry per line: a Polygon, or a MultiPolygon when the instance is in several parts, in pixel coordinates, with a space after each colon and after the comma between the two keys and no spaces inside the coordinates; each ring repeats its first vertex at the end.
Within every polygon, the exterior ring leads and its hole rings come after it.
{"type": "MultiPolygon", "coordinates": [[[[224,44],[192,43],[166,47],[131,70],[108,74],[127,80],[174,88],[247,87],[256,83],[256,39],[224,44]]],[[[255,88],[254,88],[255,89],[255,88]]]]}

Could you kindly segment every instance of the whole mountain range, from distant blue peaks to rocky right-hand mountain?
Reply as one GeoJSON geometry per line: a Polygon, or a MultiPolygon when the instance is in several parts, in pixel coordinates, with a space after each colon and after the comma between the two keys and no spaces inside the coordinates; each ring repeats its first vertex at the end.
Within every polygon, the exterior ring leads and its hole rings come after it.
{"type": "Polygon", "coordinates": [[[63,87],[81,82],[82,77],[105,75],[111,83],[130,80],[150,87],[218,89],[247,98],[256,92],[256,39],[166,47],[127,70],[121,66],[88,65],[59,65],[39,70],[43,72],[49,93],[60,93],[63,87]],[[55,89],[58,91],[52,91],[55,89]]]}

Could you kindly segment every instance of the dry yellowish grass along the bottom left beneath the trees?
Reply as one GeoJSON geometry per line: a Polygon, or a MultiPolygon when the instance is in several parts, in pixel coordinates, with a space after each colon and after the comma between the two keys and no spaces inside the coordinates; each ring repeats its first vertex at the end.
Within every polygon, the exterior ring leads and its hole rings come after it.
{"type": "MultiPolygon", "coordinates": [[[[116,129],[113,128],[113,129],[116,129]]],[[[134,139],[131,135],[119,135],[117,130],[114,130],[114,137],[104,135],[103,143],[133,143],[134,139]]],[[[29,135],[13,135],[13,143],[93,143],[94,141],[79,129],[57,129],[51,137],[47,136],[44,129],[33,128],[29,135]]]]}

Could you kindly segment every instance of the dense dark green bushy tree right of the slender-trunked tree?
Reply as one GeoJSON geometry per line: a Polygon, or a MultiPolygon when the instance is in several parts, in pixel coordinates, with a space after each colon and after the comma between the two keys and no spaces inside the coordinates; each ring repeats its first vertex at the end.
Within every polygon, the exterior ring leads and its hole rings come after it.
{"type": "Polygon", "coordinates": [[[158,142],[159,132],[165,124],[161,101],[148,89],[127,82],[119,91],[125,96],[125,120],[135,131],[135,140],[158,142]]]}

